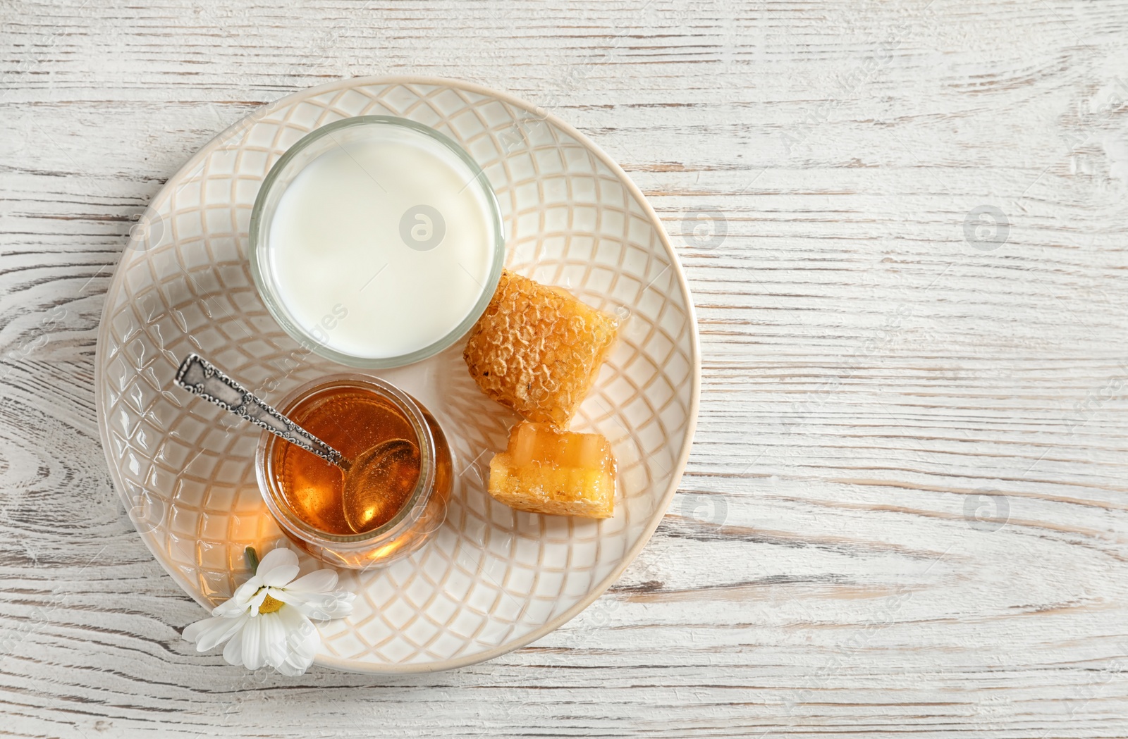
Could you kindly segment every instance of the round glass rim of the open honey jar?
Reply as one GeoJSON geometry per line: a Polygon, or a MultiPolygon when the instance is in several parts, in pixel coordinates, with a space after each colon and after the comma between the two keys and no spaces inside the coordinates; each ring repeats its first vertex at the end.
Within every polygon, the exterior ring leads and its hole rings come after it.
{"type": "Polygon", "coordinates": [[[352,544],[358,547],[369,547],[378,544],[381,540],[393,538],[400,529],[413,524],[423,513],[430,499],[430,492],[434,489],[435,479],[435,443],[431,434],[422,409],[415,400],[386,380],[372,377],[370,375],[345,373],[320,377],[307,382],[299,388],[287,393],[277,403],[279,411],[289,415],[298,403],[308,400],[316,393],[337,389],[359,388],[371,391],[390,401],[400,410],[412,425],[415,431],[417,447],[420,449],[420,477],[415,482],[415,488],[411,496],[404,501],[396,515],[390,520],[381,524],[372,531],[360,534],[341,535],[321,531],[311,526],[294,514],[288,505],[280,504],[273,495],[277,490],[281,497],[281,486],[274,475],[273,451],[277,444],[287,444],[285,440],[263,431],[258,439],[258,447],[255,449],[255,477],[258,480],[258,492],[262,495],[266,507],[270,509],[274,520],[294,536],[314,545],[352,544]],[[426,495],[424,495],[426,493],[426,495]]]}

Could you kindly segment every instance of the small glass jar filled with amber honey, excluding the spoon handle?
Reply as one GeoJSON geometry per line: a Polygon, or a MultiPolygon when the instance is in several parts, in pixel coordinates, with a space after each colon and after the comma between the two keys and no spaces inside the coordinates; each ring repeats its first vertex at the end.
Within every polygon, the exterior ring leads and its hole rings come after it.
{"type": "Polygon", "coordinates": [[[395,449],[381,461],[379,484],[358,499],[346,495],[340,468],[263,434],[255,454],[258,488],[294,544],[336,567],[384,567],[418,550],[442,525],[450,447],[414,398],[382,380],[345,374],[298,388],[279,410],[345,460],[389,442],[395,449]]]}

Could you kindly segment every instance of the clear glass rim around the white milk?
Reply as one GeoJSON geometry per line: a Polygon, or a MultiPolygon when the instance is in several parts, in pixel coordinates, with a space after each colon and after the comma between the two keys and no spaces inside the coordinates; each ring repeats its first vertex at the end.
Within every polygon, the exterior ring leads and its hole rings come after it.
{"type": "Polygon", "coordinates": [[[255,288],[258,292],[259,297],[262,297],[263,303],[266,305],[266,310],[270,312],[271,317],[274,318],[277,324],[282,327],[282,330],[290,335],[290,337],[296,341],[301,344],[302,347],[308,348],[327,359],[332,359],[338,364],[350,367],[376,370],[400,367],[426,359],[428,357],[432,357],[455,344],[460,337],[470,330],[470,328],[482,317],[482,313],[485,312],[486,306],[490,304],[490,300],[493,297],[494,291],[497,288],[497,283],[501,279],[501,270],[505,260],[505,232],[504,225],[502,224],[501,205],[497,202],[497,195],[494,193],[493,186],[486,178],[482,167],[461,145],[446,134],[408,118],[385,115],[365,115],[334,121],[333,123],[328,123],[319,128],[315,128],[287,149],[282,157],[274,162],[270,171],[266,173],[266,177],[263,179],[263,184],[259,186],[258,193],[255,196],[255,204],[250,210],[250,223],[247,228],[247,252],[248,261],[250,264],[250,276],[255,283],[255,288]],[[270,275],[267,257],[265,253],[267,239],[265,238],[266,223],[264,222],[264,219],[266,216],[273,216],[273,211],[270,213],[265,212],[267,210],[267,199],[275,185],[279,184],[282,173],[287,170],[290,162],[292,162],[310,145],[317,143],[325,136],[343,128],[364,125],[391,125],[409,128],[433,139],[442,146],[453,152],[455,155],[469,168],[470,173],[473,175],[470,181],[477,182],[477,186],[481,188],[482,195],[487,204],[490,222],[494,232],[494,243],[491,247],[492,253],[490,273],[483,284],[482,294],[478,296],[477,302],[466,317],[458,323],[458,326],[451,329],[449,333],[437,341],[425,347],[415,349],[414,351],[394,357],[363,357],[340,351],[327,346],[314,336],[311,331],[305,329],[297,320],[294,320],[294,318],[290,314],[290,311],[283,305],[282,301],[277,299],[274,291],[274,281],[270,275]],[[261,251],[263,253],[259,253],[261,251]]]}

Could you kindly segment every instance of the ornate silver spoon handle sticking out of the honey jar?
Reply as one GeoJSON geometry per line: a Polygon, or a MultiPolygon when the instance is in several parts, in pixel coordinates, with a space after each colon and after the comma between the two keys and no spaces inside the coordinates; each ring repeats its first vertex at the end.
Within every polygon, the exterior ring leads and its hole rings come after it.
{"type": "Polygon", "coordinates": [[[307,452],[312,452],[326,462],[341,469],[349,466],[341,452],[264,403],[197,354],[190,354],[180,363],[180,368],[176,371],[176,384],[307,452]]]}

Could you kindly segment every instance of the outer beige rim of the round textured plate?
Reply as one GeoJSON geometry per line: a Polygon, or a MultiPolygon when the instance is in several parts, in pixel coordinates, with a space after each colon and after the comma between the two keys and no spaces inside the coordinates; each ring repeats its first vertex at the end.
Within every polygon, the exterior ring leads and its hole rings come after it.
{"type": "MultiPolygon", "coordinates": [[[[467,82],[465,80],[456,80],[451,78],[443,77],[429,77],[429,75],[415,75],[415,74],[396,74],[396,75],[367,75],[367,77],[352,77],[346,79],[336,80],[333,82],[326,82],[324,84],[315,84],[312,87],[307,87],[301,90],[296,90],[288,95],[284,95],[271,103],[265,103],[247,115],[240,117],[238,121],[232,123],[227,128],[223,128],[218,134],[212,136],[203,146],[196,151],[179,169],[176,170],[165,184],[156,193],[156,195],[150,198],[150,203],[159,201],[161,196],[165,195],[169,187],[175,187],[175,182],[178,182],[183,177],[191,173],[192,170],[197,167],[206,157],[222,145],[227,136],[235,130],[239,128],[247,118],[261,113],[261,110],[266,107],[282,107],[285,105],[291,105],[291,99],[297,99],[299,97],[305,98],[310,95],[320,95],[324,92],[331,92],[333,90],[342,88],[352,87],[367,87],[367,86],[388,86],[388,84],[432,84],[435,87],[455,88],[460,90],[466,90],[468,92],[474,92],[477,95],[483,95],[486,97],[493,97],[500,99],[514,108],[526,110],[528,113],[534,113],[541,116],[544,119],[552,123],[554,126],[559,127],[562,131],[573,136],[579,143],[583,144],[588,151],[593,153],[600,162],[602,162],[611,172],[624,184],[627,192],[635,198],[635,201],[642,206],[643,212],[649,217],[651,224],[656,228],[659,242],[666,250],[667,257],[670,259],[670,266],[672,268],[673,275],[678,281],[679,288],[686,296],[686,320],[689,322],[689,351],[690,351],[690,389],[689,389],[689,404],[686,413],[686,437],[681,444],[681,448],[678,451],[675,461],[675,474],[671,475],[670,482],[667,486],[666,491],[659,499],[658,506],[655,507],[655,514],[652,520],[649,522],[643,527],[643,535],[638,537],[638,541],[628,549],[623,554],[622,562],[616,566],[599,584],[597,584],[584,597],[580,598],[570,608],[557,615],[556,617],[545,622],[540,626],[534,629],[527,634],[523,634],[517,639],[505,641],[492,649],[484,650],[481,652],[474,652],[473,655],[466,655],[464,657],[457,657],[452,659],[446,659],[434,662],[418,662],[418,664],[407,664],[407,665],[368,665],[358,664],[355,660],[347,660],[340,657],[334,657],[332,655],[319,653],[314,659],[314,665],[326,667],[329,669],[335,669],[342,673],[353,673],[360,675],[373,675],[373,676],[391,676],[391,675],[418,675],[428,673],[438,673],[448,669],[458,669],[461,667],[468,667],[470,665],[476,665],[478,662],[485,662],[492,659],[496,659],[503,655],[527,647],[530,643],[537,641],[556,631],[565,623],[578,616],[588,606],[598,600],[616,581],[623,576],[623,572],[631,566],[632,562],[638,557],[642,550],[650,543],[651,537],[654,535],[654,531],[658,529],[662,519],[666,517],[666,511],[669,509],[670,504],[673,500],[673,496],[677,493],[678,488],[681,484],[681,478],[685,473],[686,464],[689,461],[689,453],[693,448],[694,434],[697,429],[697,416],[700,404],[700,336],[697,327],[697,311],[694,305],[693,292],[689,290],[689,283],[686,279],[685,270],[681,267],[681,261],[678,259],[677,251],[675,251],[673,246],[670,243],[670,237],[666,232],[666,226],[662,224],[662,220],[658,217],[653,206],[646,199],[642,189],[631,179],[629,175],[611,159],[607,152],[605,152],[598,144],[591,141],[587,135],[576,130],[574,126],[567,122],[557,117],[554,113],[541,108],[540,106],[534,106],[509,92],[501,90],[495,90],[493,88],[485,87],[483,84],[477,84],[475,82],[467,82]]],[[[106,466],[109,469],[109,477],[114,482],[114,488],[117,491],[118,498],[122,499],[123,505],[129,506],[129,499],[125,496],[124,484],[121,478],[121,471],[114,464],[114,460],[111,457],[111,445],[107,438],[108,424],[103,411],[103,371],[102,371],[102,356],[104,339],[108,335],[108,322],[107,313],[111,310],[112,303],[109,296],[112,294],[117,294],[121,288],[121,284],[125,278],[125,273],[121,269],[124,262],[124,257],[129,253],[130,246],[134,241],[139,240],[139,235],[134,235],[126,243],[125,248],[122,250],[118,257],[117,265],[114,267],[114,275],[111,279],[109,286],[106,288],[105,297],[106,302],[102,309],[102,315],[98,320],[98,338],[95,345],[94,355],[94,395],[95,395],[95,411],[97,413],[98,420],[98,436],[102,440],[103,454],[106,458],[106,466]]],[[[132,522],[131,522],[132,523],[132,522]]],[[[193,600],[199,603],[202,607],[210,609],[213,607],[210,603],[199,597],[194,590],[195,588],[190,587],[188,584],[180,577],[180,573],[169,569],[161,557],[158,555],[155,549],[156,542],[150,534],[142,533],[140,529],[138,534],[141,536],[141,541],[148,547],[149,553],[152,558],[157,560],[161,569],[165,570],[167,575],[173,578],[180,589],[188,595],[193,600]]],[[[173,629],[175,625],[169,624],[173,629]]],[[[183,630],[180,630],[183,631],[183,630]]]]}

